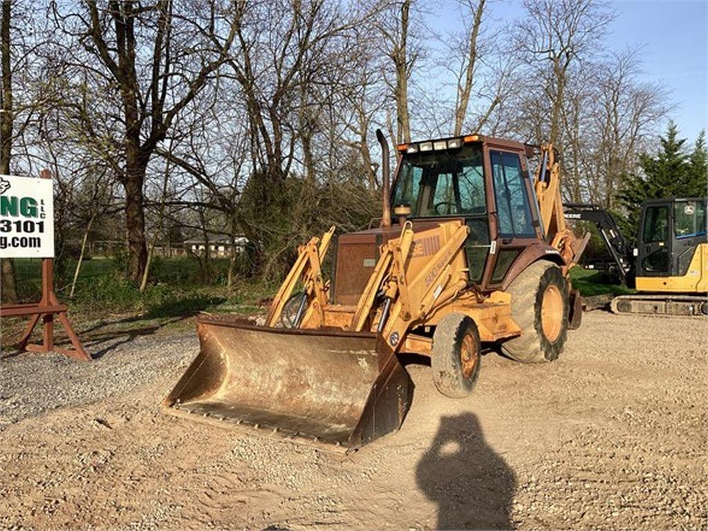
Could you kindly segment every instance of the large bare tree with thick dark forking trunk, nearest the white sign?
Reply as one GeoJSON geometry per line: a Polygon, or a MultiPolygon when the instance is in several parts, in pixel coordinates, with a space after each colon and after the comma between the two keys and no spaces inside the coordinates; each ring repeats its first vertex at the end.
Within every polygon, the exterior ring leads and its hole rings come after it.
{"type": "Polygon", "coordinates": [[[93,132],[100,149],[118,155],[113,165],[125,190],[128,271],[136,282],[147,261],[143,187],[150,158],[178,113],[210,83],[234,40],[234,25],[224,22],[227,13],[215,2],[207,2],[206,13],[176,13],[174,6],[169,0],[150,6],[112,0],[99,8],[88,0],[82,9],[56,12],[59,27],[87,52],[72,50],[74,75],[91,82],[93,91],[118,91],[117,108],[107,113],[113,130],[84,105],[74,106],[72,118],[93,132]]]}

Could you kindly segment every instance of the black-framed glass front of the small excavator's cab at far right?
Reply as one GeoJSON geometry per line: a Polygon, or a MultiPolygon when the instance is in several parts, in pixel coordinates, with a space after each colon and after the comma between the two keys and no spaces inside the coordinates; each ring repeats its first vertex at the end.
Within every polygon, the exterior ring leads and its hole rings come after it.
{"type": "Polygon", "coordinates": [[[644,206],[637,241],[636,276],[668,277],[671,274],[670,203],[644,206]]]}

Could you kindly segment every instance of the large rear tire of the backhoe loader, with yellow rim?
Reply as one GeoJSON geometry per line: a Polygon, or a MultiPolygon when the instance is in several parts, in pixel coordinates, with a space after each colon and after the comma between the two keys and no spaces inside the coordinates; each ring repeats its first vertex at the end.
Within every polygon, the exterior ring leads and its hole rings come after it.
{"type": "Polygon", "coordinates": [[[511,317],[522,334],[501,345],[503,353],[524,363],[553,361],[568,336],[568,284],[549,262],[532,263],[511,282],[511,317]]]}

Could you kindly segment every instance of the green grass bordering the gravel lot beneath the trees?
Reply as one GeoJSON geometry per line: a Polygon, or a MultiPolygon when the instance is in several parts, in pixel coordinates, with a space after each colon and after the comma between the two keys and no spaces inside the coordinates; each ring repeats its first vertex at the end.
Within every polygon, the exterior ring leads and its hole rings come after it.
{"type": "MultiPolygon", "coordinates": [[[[41,269],[38,260],[17,260],[18,291],[23,302],[41,296],[41,269]]],[[[151,283],[140,292],[125,279],[120,263],[110,259],[84,262],[76,292],[69,298],[69,287],[76,267],[69,261],[56,275],[57,295],[70,308],[71,319],[81,332],[95,334],[125,333],[138,330],[187,329],[200,312],[252,315],[263,312],[263,299],[273,297],[277,286],[241,280],[226,287],[227,260],[212,261],[210,282],[201,278],[195,258],[159,258],[154,263],[151,283]]],[[[627,287],[603,281],[603,273],[582,268],[571,270],[573,286],[581,295],[620,295],[631,293],[627,287]]],[[[26,319],[3,319],[2,335],[14,336],[26,319]]],[[[153,332],[151,332],[153,333],[153,332]]]]}

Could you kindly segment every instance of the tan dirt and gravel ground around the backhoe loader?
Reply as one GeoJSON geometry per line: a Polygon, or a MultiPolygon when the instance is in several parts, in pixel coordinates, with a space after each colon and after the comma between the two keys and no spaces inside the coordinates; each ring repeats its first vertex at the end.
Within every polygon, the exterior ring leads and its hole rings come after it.
{"type": "Polygon", "coordinates": [[[468,399],[430,369],[403,428],[354,455],[164,414],[193,334],[91,364],[0,362],[0,528],[708,525],[702,319],[590,312],[547,365],[484,356],[468,399]]]}

